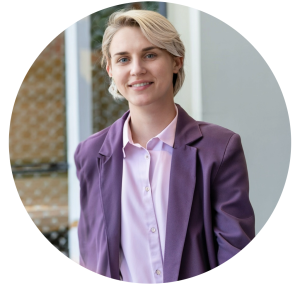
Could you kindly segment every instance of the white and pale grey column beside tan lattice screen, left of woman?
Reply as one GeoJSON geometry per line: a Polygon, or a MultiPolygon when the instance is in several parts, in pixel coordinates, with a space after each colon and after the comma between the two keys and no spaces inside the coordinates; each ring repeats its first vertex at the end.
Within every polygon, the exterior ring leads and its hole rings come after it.
{"type": "Polygon", "coordinates": [[[77,223],[79,220],[79,182],[74,152],[92,134],[92,83],[90,19],[86,17],[65,31],[66,120],[69,198],[69,253],[79,262],[77,223]]]}

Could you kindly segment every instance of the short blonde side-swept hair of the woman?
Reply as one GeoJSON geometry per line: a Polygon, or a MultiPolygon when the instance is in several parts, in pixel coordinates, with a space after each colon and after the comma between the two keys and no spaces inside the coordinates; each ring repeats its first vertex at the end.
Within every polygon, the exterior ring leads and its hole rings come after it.
{"type": "MultiPolygon", "coordinates": [[[[167,50],[174,56],[185,56],[185,48],[175,27],[161,14],[150,10],[120,10],[108,20],[102,41],[101,65],[105,68],[111,56],[109,47],[115,33],[125,26],[140,27],[147,40],[153,45],[167,50]]],[[[173,76],[173,94],[178,93],[185,78],[183,65],[178,74],[173,76]]]]}

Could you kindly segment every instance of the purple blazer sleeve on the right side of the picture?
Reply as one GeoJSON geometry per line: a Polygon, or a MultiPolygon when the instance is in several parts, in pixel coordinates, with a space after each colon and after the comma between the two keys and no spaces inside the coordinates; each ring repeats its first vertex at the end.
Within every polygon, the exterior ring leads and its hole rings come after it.
{"type": "Polygon", "coordinates": [[[238,134],[226,146],[212,186],[217,259],[222,264],[255,236],[246,159],[238,134]]]}

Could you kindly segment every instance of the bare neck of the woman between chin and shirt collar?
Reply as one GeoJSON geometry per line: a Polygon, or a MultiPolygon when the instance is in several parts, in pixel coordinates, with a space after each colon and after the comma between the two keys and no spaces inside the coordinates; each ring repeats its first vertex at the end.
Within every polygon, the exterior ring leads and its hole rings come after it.
{"type": "Polygon", "coordinates": [[[147,142],[163,131],[176,116],[173,100],[161,105],[129,105],[129,108],[132,140],[144,148],[147,142]]]}

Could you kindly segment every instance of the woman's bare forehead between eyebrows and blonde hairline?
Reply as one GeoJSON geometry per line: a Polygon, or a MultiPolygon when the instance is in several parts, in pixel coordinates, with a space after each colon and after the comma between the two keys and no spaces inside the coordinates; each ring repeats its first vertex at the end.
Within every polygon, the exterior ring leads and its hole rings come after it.
{"type": "Polygon", "coordinates": [[[139,51],[145,47],[154,46],[143,35],[139,27],[123,27],[119,29],[111,41],[109,52],[111,56],[117,52],[139,51]]]}

